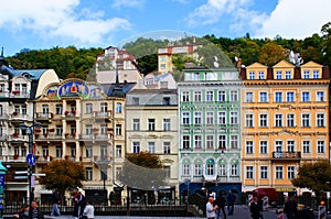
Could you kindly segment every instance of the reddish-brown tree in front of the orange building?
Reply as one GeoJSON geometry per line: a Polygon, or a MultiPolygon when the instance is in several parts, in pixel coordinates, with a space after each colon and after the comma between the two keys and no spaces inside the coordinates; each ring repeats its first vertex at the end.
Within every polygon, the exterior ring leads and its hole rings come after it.
{"type": "Polygon", "coordinates": [[[331,165],[328,161],[307,163],[299,167],[293,186],[314,191],[331,190],[331,165]]]}

